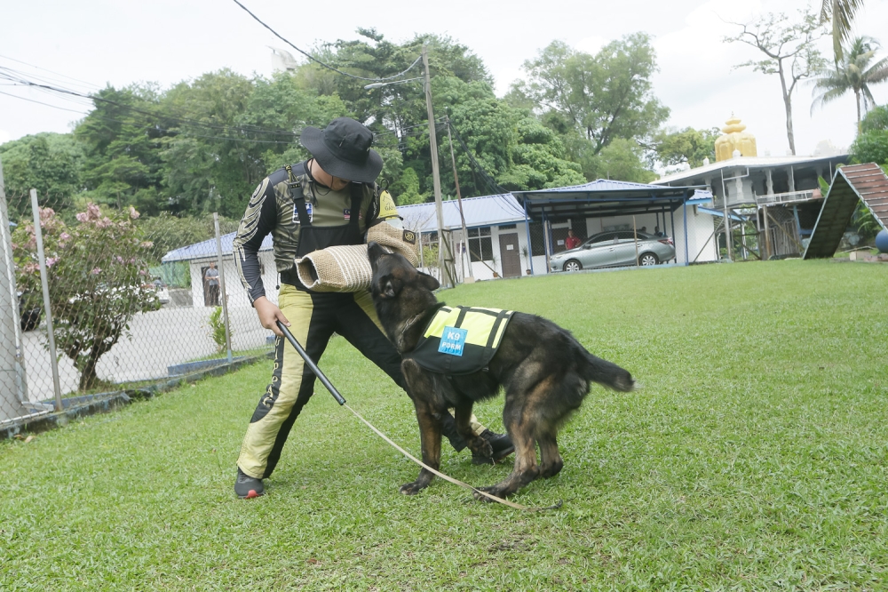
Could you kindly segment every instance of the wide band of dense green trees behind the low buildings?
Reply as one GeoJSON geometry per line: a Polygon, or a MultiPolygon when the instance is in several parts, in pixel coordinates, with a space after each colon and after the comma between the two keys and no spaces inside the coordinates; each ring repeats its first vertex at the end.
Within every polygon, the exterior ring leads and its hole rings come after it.
{"type": "MultiPolygon", "coordinates": [[[[360,29],[357,38],[323,44],[314,54],[377,78],[410,67],[424,45],[446,197],[456,196],[451,136],[463,196],[598,177],[651,180],[655,164],[696,162],[707,150],[708,132],[662,130],[669,109],[654,96],[656,59],[642,33],[594,55],[553,42],[527,61],[527,79],[503,98],[483,61],[448,36],[394,43],[360,29]]],[[[420,65],[404,78],[422,74],[420,65]]],[[[431,200],[424,84],[365,85],[307,61],[271,77],[223,69],[167,89],[107,86],[93,95],[91,112],[73,132],[0,146],[7,192],[25,196],[35,187],[41,203],[68,221],[89,202],[118,211],[134,206],[139,224],[156,219],[170,225],[170,236],[183,236],[174,219],[202,228],[209,212],[240,218],[259,180],[308,156],[298,141],[305,126],[352,116],[376,134],[374,148],[385,162],[380,182],[398,203],[431,200]]],[[[26,210],[13,215],[27,216],[26,210]]]]}

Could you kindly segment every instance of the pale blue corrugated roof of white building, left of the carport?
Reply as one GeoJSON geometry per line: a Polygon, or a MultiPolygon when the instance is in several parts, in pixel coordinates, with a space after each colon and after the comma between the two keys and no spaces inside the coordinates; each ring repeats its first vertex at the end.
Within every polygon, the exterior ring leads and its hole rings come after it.
{"type": "MultiPolygon", "coordinates": [[[[456,199],[442,203],[441,212],[444,216],[444,228],[448,230],[461,228],[459,205],[456,199]]],[[[435,204],[400,205],[398,213],[404,219],[404,228],[422,232],[436,232],[438,230],[435,204]]],[[[496,196],[467,197],[463,200],[463,213],[466,228],[514,224],[524,221],[524,208],[508,193],[496,196]]]]}

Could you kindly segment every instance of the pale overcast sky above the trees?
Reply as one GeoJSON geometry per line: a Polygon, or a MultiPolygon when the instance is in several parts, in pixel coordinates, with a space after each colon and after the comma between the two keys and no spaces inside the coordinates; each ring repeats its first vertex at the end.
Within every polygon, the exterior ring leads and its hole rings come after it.
{"type": "MultiPolygon", "coordinates": [[[[746,45],[724,44],[722,37],[734,29],[725,20],[749,21],[762,11],[795,12],[805,8],[802,2],[242,2],[303,49],[338,38],[353,39],[358,27],[377,28],[393,41],[421,32],[447,34],[484,60],[496,79],[498,95],[522,76],[524,60],[553,39],[595,52],[612,39],[645,31],[654,36],[660,67],[654,93],[671,109],[671,126],[722,126],[733,112],[756,135],[759,155],[783,155],[789,148],[778,77],[733,70],[734,64],[761,54],[746,45]]],[[[141,81],[167,87],[220,68],[269,76],[268,46],[282,45],[230,0],[0,0],[0,15],[0,66],[47,76],[81,91],[141,81]]],[[[881,41],[888,44],[888,0],[867,0],[857,22],[857,34],[884,36],[881,41]]],[[[823,48],[829,55],[828,40],[823,48]]],[[[885,54],[879,52],[876,58],[885,54]]],[[[67,132],[89,110],[87,101],[3,84],[0,143],[36,132],[67,132]]],[[[888,102],[888,84],[874,87],[873,92],[879,104],[888,102]]],[[[856,126],[852,95],[813,115],[811,102],[810,85],[802,86],[794,97],[798,154],[811,154],[821,140],[847,147],[856,126]]]]}

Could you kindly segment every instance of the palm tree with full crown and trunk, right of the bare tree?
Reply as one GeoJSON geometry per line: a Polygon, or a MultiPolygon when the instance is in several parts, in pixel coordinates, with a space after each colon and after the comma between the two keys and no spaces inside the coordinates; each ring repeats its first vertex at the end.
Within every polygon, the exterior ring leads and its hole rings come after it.
{"type": "Polygon", "coordinates": [[[820,94],[814,97],[811,111],[838,99],[845,92],[853,91],[857,101],[857,132],[860,133],[860,106],[866,112],[876,105],[873,93],[869,92],[869,85],[888,80],[888,58],[878,60],[872,65],[869,63],[878,48],[878,42],[872,37],[854,39],[836,68],[825,68],[821,76],[814,78],[814,92],[820,94]]]}

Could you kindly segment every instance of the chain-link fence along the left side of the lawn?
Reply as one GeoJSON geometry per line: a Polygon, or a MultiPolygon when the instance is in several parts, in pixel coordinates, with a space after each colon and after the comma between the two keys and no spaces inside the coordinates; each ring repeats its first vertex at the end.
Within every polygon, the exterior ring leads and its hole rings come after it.
{"type": "Polygon", "coordinates": [[[38,233],[30,196],[0,192],[0,208],[0,428],[273,348],[234,267],[237,220],[83,204],[38,207],[38,233]]]}

